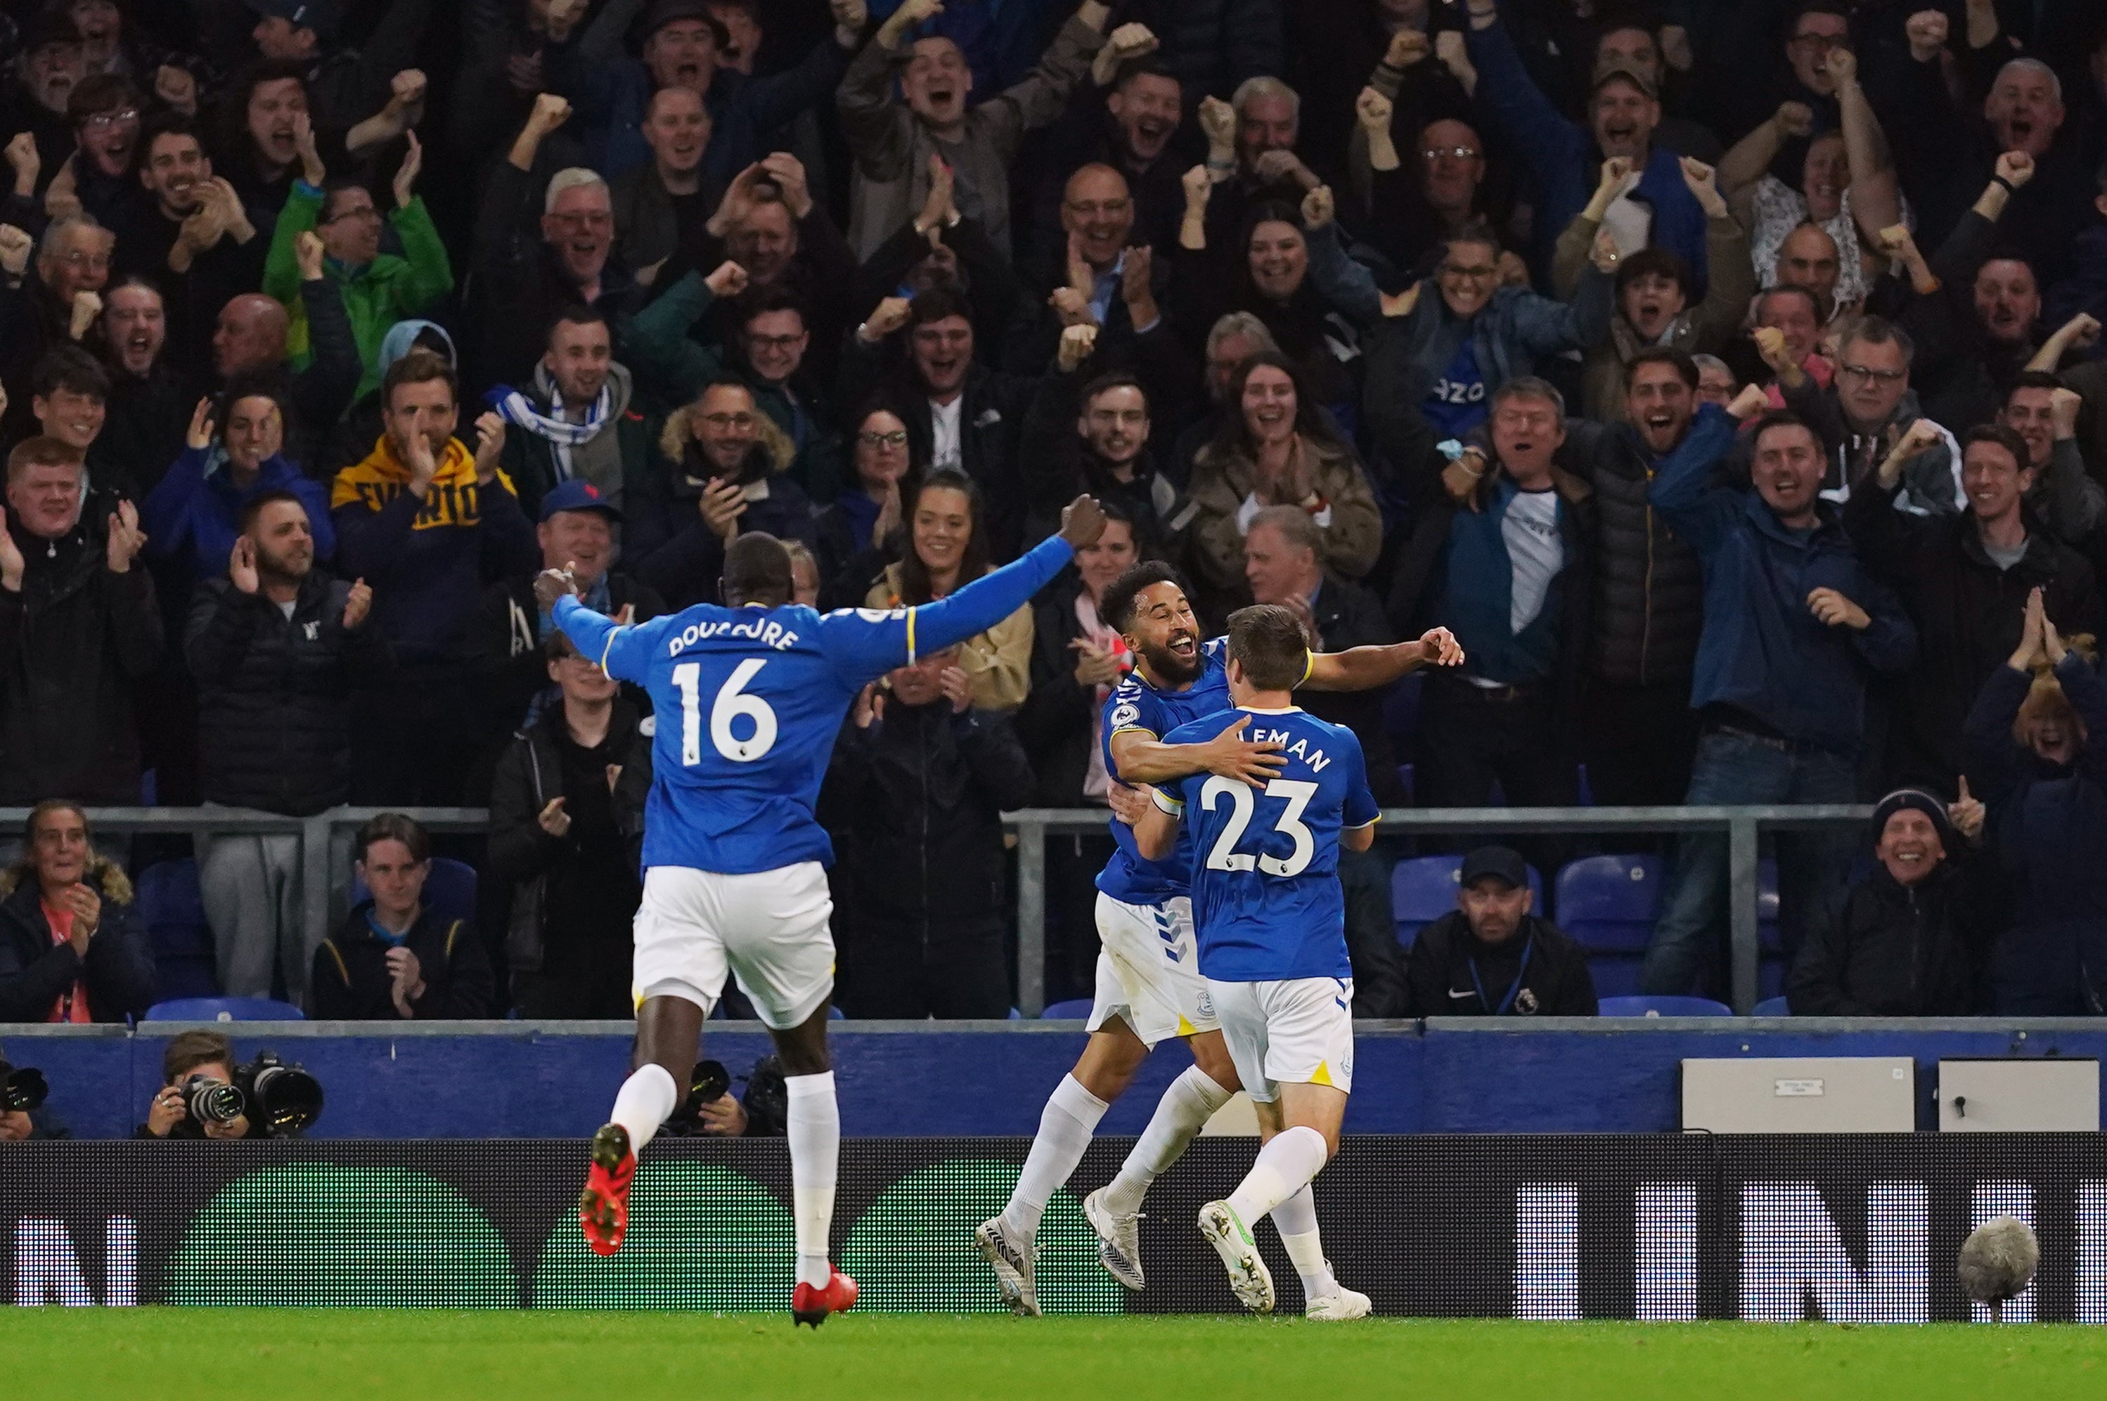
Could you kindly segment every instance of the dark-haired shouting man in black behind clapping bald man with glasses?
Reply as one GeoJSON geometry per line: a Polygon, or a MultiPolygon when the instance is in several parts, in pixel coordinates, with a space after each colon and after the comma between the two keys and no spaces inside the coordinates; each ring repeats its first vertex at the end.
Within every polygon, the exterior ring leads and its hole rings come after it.
{"type": "MultiPolygon", "coordinates": [[[[1104,51],[1100,51],[1102,57],[1104,51]]],[[[1184,88],[1167,70],[1136,59],[1119,67],[1112,91],[1102,82],[1077,91],[1068,112],[1047,129],[1047,175],[1032,198],[1030,253],[1056,257],[1064,253],[1066,234],[1062,206],[1068,171],[1106,166],[1117,171],[1134,196],[1131,228],[1136,242],[1169,249],[1178,242],[1178,221],[1184,217],[1180,188],[1180,154],[1171,150],[1184,118],[1184,88]]]]}

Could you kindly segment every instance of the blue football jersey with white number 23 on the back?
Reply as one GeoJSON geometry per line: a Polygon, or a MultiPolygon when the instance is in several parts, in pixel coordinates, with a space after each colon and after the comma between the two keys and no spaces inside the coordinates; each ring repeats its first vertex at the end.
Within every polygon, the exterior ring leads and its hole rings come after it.
{"type": "Polygon", "coordinates": [[[1302,710],[1224,710],[1184,725],[1165,744],[1201,744],[1239,714],[1249,739],[1277,739],[1287,769],[1264,792],[1195,773],[1157,790],[1182,811],[1193,841],[1193,931],[1199,971],[1218,982],[1351,978],[1338,834],[1380,815],[1361,742],[1302,710]]]}

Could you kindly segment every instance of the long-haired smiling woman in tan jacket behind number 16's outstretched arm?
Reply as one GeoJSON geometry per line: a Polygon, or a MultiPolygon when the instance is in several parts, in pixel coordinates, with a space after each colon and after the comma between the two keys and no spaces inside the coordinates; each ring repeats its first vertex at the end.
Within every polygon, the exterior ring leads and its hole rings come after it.
{"type": "MultiPolygon", "coordinates": [[[[980,487],[942,468],[906,495],[908,548],[864,594],[866,609],[912,609],[950,596],[988,573],[980,487]]],[[[1032,607],[959,645],[959,670],[973,683],[980,710],[1016,710],[1030,691],[1032,607]]]]}

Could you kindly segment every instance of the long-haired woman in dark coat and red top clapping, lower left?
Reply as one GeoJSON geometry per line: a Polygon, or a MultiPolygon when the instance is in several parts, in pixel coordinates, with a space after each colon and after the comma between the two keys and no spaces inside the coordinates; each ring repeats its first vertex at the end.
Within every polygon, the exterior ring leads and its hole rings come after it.
{"type": "Polygon", "coordinates": [[[74,803],[29,809],[27,851],[0,870],[0,1022],[122,1022],[154,1003],[133,885],[95,851],[74,803]]]}

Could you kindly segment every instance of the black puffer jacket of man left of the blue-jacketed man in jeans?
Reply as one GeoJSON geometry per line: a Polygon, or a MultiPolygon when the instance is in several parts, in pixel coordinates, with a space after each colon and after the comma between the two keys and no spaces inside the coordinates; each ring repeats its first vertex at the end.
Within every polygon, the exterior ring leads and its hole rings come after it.
{"type": "Polygon", "coordinates": [[[1559,461],[1595,487],[1587,672],[1616,687],[1688,683],[1705,628],[1705,571],[1646,499],[1665,459],[1629,423],[1568,419],[1559,461]]]}

